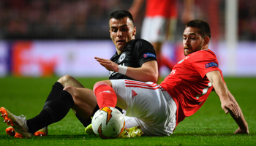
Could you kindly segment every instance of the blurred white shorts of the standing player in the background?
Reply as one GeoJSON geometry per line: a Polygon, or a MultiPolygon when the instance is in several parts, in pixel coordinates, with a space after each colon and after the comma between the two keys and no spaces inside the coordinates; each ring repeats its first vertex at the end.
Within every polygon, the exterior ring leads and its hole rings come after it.
{"type": "Polygon", "coordinates": [[[145,17],[141,27],[141,39],[151,43],[173,40],[176,22],[176,18],[145,17]]]}

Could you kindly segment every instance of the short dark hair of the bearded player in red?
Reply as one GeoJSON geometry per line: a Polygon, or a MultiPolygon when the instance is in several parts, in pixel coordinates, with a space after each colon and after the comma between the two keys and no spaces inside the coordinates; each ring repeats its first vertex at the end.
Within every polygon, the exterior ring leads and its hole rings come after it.
{"type": "Polygon", "coordinates": [[[187,27],[199,28],[199,33],[200,33],[200,35],[203,38],[209,37],[211,39],[211,29],[210,29],[210,26],[204,20],[199,20],[199,19],[191,20],[191,21],[189,21],[189,23],[186,24],[185,27],[186,28],[187,27]]]}

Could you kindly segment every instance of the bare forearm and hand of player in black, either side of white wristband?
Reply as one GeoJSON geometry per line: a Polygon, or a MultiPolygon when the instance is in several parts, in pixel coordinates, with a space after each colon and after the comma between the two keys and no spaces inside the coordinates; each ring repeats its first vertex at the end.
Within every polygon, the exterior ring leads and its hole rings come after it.
{"type": "MultiPolygon", "coordinates": [[[[98,57],[95,57],[95,59],[99,62],[99,64],[105,66],[105,68],[109,71],[118,72],[118,64],[114,63],[113,61],[98,57]]],[[[147,61],[138,68],[127,67],[127,72],[124,75],[142,82],[157,82],[157,61],[147,61]]]]}

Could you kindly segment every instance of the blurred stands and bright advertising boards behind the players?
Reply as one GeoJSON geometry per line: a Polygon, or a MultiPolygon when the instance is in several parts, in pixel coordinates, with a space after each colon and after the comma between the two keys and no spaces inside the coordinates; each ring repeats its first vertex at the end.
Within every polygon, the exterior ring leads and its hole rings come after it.
{"type": "MultiPolygon", "coordinates": [[[[223,74],[256,77],[256,1],[194,1],[195,18],[211,27],[210,49],[223,74]]],[[[108,16],[131,4],[132,0],[0,0],[0,77],[108,77],[94,56],[110,58],[116,52],[108,16]]],[[[177,7],[180,15],[183,0],[177,7]]],[[[135,20],[136,38],[144,12],[142,7],[135,20]]],[[[178,19],[174,39],[162,49],[175,62],[184,58],[183,31],[178,19]]],[[[162,76],[169,73],[162,68],[162,76]]]]}

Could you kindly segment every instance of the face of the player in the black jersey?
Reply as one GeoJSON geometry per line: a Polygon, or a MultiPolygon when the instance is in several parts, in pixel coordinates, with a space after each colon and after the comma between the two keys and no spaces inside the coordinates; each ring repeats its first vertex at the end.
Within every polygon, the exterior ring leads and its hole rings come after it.
{"type": "Polygon", "coordinates": [[[118,54],[124,51],[127,47],[127,42],[135,39],[136,28],[133,27],[132,20],[129,18],[122,18],[116,20],[114,18],[109,21],[110,37],[116,46],[118,54]]]}

